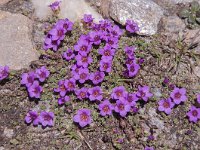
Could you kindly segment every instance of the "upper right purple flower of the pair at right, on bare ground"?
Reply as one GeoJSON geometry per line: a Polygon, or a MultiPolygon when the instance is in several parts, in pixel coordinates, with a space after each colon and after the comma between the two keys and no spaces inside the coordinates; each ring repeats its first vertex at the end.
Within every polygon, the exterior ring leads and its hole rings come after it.
{"type": "Polygon", "coordinates": [[[173,99],[175,104],[185,102],[187,100],[186,89],[175,87],[174,90],[171,92],[170,97],[173,99]]]}

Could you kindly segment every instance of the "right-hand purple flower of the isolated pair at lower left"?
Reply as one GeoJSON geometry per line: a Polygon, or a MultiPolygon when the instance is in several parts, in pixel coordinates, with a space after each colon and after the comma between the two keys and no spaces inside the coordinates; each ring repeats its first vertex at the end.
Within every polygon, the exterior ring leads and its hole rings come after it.
{"type": "Polygon", "coordinates": [[[53,126],[54,113],[42,111],[40,113],[39,119],[40,119],[40,123],[42,124],[43,127],[53,126]]]}

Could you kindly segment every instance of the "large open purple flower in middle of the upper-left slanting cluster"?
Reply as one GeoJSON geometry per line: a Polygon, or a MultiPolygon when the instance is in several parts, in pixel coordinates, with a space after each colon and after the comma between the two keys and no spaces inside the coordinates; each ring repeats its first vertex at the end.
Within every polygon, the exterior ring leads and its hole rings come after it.
{"type": "Polygon", "coordinates": [[[66,30],[63,28],[63,23],[58,22],[53,29],[49,31],[52,41],[63,40],[65,38],[66,30]]]}

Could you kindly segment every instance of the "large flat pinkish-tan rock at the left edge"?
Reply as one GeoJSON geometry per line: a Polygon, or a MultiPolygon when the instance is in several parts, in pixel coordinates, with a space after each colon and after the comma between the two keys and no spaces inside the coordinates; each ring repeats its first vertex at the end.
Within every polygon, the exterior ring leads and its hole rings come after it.
{"type": "Polygon", "coordinates": [[[0,11],[0,64],[19,70],[38,59],[31,41],[32,22],[21,14],[0,11]]]}

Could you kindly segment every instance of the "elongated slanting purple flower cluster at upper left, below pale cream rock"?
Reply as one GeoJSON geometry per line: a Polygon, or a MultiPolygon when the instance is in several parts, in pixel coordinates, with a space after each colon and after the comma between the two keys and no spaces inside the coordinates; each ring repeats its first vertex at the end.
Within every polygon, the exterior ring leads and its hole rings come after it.
{"type": "Polygon", "coordinates": [[[44,50],[53,49],[57,51],[65,35],[73,28],[73,23],[68,19],[59,20],[46,35],[43,48],[44,50]]]}

